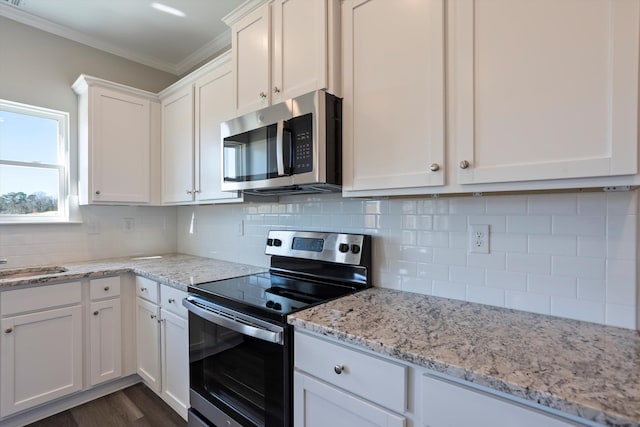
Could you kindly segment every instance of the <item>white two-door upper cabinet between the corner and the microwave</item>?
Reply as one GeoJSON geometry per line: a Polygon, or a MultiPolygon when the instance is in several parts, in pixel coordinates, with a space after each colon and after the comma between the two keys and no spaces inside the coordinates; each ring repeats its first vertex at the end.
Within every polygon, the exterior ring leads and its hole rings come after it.
{"type": "Polygon", "coordinates": [[[162,202],[242,201],[224,192],[220,123],[234,115],[231,54],[226,53],[160,93],[162,202]]]}

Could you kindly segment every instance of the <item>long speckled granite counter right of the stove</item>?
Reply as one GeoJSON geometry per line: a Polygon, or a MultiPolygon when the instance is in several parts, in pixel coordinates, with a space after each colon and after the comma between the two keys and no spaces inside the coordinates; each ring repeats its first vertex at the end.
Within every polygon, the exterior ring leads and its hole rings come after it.
{"type": "Polygon", "coordinates": [[[640,426],[637,331],[378,288],[289,323],[598,423],[640,426]]]}

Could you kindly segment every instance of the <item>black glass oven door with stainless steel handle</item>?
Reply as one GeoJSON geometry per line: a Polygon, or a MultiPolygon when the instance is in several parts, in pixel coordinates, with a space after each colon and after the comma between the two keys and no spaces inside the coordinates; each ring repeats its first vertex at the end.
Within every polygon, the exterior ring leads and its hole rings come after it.
{"type": "Polygon", "coordinates": [[[192,409],[213,425],[290,425],[286,325],[255,319],[197,295],[183,303],[189,310],[192,409]]]}

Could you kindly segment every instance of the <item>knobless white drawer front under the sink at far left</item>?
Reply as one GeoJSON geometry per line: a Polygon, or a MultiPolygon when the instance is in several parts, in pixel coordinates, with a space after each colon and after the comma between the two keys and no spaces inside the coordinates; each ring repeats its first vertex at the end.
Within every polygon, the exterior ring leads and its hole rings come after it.
{"type": "Polygon", "coordinates": [[[80,282],[36,286],[0,293],[0,313],[3,316],[78,304],[82,299],[80,282]]]}

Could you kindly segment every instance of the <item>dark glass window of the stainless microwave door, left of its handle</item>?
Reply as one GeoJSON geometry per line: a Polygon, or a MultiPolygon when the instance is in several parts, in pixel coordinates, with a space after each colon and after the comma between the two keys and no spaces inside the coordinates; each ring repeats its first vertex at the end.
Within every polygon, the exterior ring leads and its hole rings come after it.
{"type": "Polygon", "coordinates": [[[277,177],[277,125],[226,137],[223,159],[225,182],[277,177]]]}

